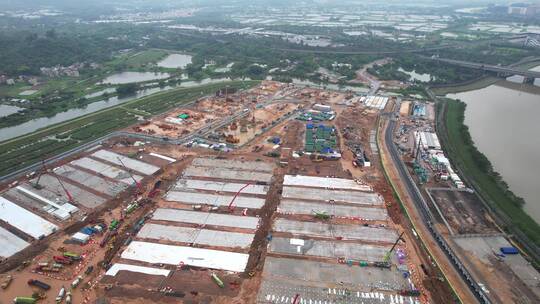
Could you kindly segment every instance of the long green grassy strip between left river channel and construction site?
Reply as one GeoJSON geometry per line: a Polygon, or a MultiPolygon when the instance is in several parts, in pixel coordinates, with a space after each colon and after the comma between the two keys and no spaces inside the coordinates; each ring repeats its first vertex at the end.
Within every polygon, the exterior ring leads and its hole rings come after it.
{"type": "Polygon", "coordinates": [[[248,88],[258,81],[230,81],[193,88],[181,88],[157,93],[110,107],[34,133],[0,143],[0,175],[75,148],[112,131],[137,122],[141,111],[145,117],[166,112],[203,95],[212,94],[225,85],[248,88]]]}

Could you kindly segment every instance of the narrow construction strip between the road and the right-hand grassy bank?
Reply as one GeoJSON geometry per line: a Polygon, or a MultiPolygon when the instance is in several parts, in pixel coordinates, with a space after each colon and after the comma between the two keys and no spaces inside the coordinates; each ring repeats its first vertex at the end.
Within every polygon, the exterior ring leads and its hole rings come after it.
{"type": "Polygon", "coordinates": [[[433,219],[431,229],[463,263],[471,282],[478,282],[478,293],[492,303],[538,302],[538,271],[445,155],[435,132],[434,104],[403,101],[395,111],[394,142],[421,190],[433,219]]]}

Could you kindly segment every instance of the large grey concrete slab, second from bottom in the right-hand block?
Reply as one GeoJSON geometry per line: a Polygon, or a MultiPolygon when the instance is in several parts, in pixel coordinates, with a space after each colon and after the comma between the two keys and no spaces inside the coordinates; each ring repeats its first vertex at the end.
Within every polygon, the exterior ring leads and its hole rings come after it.
{"type": "Polygon", "coordinates": [[[376,267],[349,267],[345,264],[330,264],[302,259],[266,257],[264,277],[276,280],[298,280],[336,285],[351,285],[367,290],[408,289],[407,279],[400,271],[376,267]]]}

